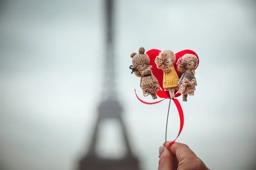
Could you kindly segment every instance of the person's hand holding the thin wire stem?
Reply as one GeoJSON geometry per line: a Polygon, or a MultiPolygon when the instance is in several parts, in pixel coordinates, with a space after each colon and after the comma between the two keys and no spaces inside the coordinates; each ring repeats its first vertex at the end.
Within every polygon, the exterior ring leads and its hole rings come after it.
{"type": "Polygon", "coordinates": [[[158,170],[209,170],[186,144],[166,142],[160,147],[158,170]]]}

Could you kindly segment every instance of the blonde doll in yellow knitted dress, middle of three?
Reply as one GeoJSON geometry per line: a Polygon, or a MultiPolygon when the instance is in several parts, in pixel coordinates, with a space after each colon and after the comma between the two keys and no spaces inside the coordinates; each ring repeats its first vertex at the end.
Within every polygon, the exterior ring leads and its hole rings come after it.
{"type": "Polygon", "coordinates": [[[161,51],[156,57],[157,68],[163,70],[163,88],[169,91],[170,97],[175,98],[175,90],[178,88],[179,77],[174,68],[175,54],[171,50],[161,51]]]}

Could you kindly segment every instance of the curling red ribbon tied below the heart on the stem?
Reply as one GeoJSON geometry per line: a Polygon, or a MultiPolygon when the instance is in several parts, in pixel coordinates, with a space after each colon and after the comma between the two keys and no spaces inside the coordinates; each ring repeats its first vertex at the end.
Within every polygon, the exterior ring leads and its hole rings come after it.
{"type": "MultiPolygon", "coordinates": [[[[134,91],[135,91],[135,94],[136,94],[136,90],[134,89],[134,91]]],[[[137,96],[137,94],[136,94],[136,96],[137,96]]],[[[137,98],[140,100],[140,102],[143,102],[144,104],[146,104],[146,105],[154,105],[154,104],[157,104],[157,103],[159,103],[159,102],[162,102],[163,100],[165,100],[165,99],[170,99],[169,97],[166,97],[166,98],[164,98],[164,99],[162,99],[162,100],[160,100],[160,101],[157,101],[157,102],[153,102],[153,103],[148,103],[148,102],[144,102],[142,99],[140,99],[138,96],[137,96],[137,98]]],[[[183,111],[182,111],[182,107],[181,107],[181,105],[180,105],[180,102],[177,100],[177,99],[174,99],[174,98],[172,98],[172,100],[173,100],[173,102],[175,103],[175,105],[176,105],[176,108],[177,108],[177,110],[178,110],[178,113],[179,113],[179,116],[180,116],[180,131],[179,131],[179,133],[178,133],[178,135],[177,135],[177,138],[180,136],[180,133],[181,133],[181,131],[182,131],[182,129],[183,129],[183,125],[184,125],[184,115],[183,115],[183,111]]],[[[177,139],[176,138],[176,139],[177,139]]],[[[174,144],[174,142],[176,141],[176,139],[174,140],[174,141],[172,141],[171,143],[169,143],[169,146],[171,146],[172,144],[174,144]]]]}

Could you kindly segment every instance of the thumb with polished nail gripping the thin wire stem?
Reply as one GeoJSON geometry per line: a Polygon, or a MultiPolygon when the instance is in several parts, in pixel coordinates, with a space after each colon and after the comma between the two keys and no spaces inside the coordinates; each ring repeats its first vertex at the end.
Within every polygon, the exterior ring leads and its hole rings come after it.
{"type": "MultiPolygon", "coordinates": [[[[160,147],[160,150],[163,150],[163,147],[160,147]]],[[[174,157],[171,151],[164,147],[163,153],[160,154],[158,170],[173,170],[173,160],[174,157]]]]}

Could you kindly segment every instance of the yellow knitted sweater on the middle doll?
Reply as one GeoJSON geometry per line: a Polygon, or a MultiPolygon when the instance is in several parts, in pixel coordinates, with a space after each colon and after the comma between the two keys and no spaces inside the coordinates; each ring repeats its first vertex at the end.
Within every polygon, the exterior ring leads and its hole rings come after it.
{"type": "Polygon", "coordinates": [[[174,66],[171,67],[172,71],[168,74],[163,73],[163,88],[173,88],[178,86],[179,77],[175,71],[174,66]]]}

